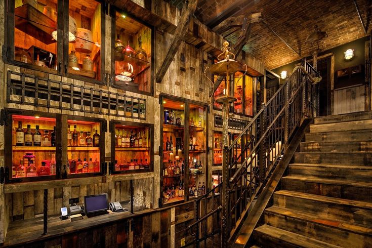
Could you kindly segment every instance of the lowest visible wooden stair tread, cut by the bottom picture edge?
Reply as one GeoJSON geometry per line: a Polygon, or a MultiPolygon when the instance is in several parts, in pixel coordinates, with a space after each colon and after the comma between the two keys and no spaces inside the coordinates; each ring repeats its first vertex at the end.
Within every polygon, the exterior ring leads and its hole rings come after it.
{"type": "Polygon", "coordinates": [[[255,231],[260,232],[264,235],[271,236],[274,238],[278,238],[283,240],[284,242],[291,243],[294,245],[298,245],[300,247],[329,247],[329,248],[336,248],[340,247],[337,245],[333,245],[330,243],[326,243],[317,239],[309,238],[304,235],[300,235],[297,233],[289,232],[280,228],[276,228],[269,225],[262,225],[255,229],[255,231]]]}

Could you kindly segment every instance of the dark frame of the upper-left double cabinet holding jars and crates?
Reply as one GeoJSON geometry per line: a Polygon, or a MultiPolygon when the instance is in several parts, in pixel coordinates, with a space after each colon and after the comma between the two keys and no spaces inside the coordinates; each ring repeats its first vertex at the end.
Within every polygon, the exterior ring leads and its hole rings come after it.
{"type": "MultiPolygon", "coordinates": [[[[101,64],[100,64],[100,80],[89,78],[86,76],[73,75],[68,73],[68,14],[69,0],[57,0],[57,70],[51,68],[43,68],[41,66],[27,64],[14,59],[14,26],[15,26],[15,1],[5,0],[4,16],[5,16],[5,41],[3,46],[3,61],[8,64],[20,66],[35,71],[47,72],[60,76],[66,76],[94,84],[105,85],[105,30],[106,30],[106,9],[107,3],[104,0],[95,0],[101,4],[101,64]],[[67,21],[64,21],[67,20],[67,21]],[[63,31],[67,30],[67,31],[63,31]],[[103,51],[103,52],[102,52],[103,51]]],[[[52,36],[51,36],[52,38],[52,36]]]]}

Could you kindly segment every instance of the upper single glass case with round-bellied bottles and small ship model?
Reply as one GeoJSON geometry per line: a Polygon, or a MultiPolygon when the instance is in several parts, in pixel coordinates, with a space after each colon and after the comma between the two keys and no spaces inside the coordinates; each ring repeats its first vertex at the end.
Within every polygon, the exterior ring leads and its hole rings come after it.
{"type": "Polygon", "coordinates": [[[112,67],[115,88],[152,94],[154,30],[118,10],[112,17],[112,67]]]}

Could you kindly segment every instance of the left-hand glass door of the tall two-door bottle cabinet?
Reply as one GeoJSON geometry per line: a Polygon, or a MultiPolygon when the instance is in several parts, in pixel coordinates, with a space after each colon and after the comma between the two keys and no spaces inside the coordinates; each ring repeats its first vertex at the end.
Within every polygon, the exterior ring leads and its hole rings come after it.
{"type": "Polygon", "coordinates": [[[184,185],[185,103],[163,99],[162,111],[160,183],[162,203],[168,204],[184,200],[188,193],[184,185]]]}

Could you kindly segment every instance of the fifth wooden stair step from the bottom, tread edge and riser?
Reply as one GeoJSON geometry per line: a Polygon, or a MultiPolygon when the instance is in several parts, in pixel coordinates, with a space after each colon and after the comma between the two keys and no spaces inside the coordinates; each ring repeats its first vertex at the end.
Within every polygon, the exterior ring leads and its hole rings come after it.
{"type": "Polygon", "coordinates": [[[372,166],[291,163],[288,166],[288,175],[368,182],[372,178],[372,166]]]}

